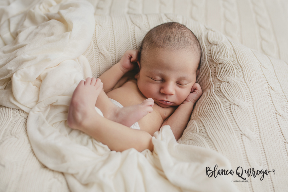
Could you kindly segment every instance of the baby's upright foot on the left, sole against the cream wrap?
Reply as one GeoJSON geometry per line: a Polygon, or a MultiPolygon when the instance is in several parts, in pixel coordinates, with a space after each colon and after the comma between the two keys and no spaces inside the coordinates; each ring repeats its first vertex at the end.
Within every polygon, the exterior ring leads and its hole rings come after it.
{"type": "Polygon", "coordinates": [[[94,106],[102,88],[101,79],[88,77],[86,81],[80,81],[73,92],[69,106],[67,117],[69,127],[81,129],[85,120],[95,115],[94,106]]]}

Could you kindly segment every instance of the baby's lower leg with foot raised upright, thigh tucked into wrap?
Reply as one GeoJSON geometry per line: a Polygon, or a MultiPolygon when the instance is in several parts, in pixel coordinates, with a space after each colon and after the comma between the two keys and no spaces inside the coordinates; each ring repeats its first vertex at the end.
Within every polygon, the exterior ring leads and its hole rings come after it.
{"type": "Polygon", "coordinates": [[[120,123],[101,117],[95,110],[97,97],[102,91],[100,79],[87,78],[75,89],[68,111],[67,123],[108,145],[111,150],[124,151],[135,148],[153,150],[152,136],[142,130],[134,130],[120,123]]]}

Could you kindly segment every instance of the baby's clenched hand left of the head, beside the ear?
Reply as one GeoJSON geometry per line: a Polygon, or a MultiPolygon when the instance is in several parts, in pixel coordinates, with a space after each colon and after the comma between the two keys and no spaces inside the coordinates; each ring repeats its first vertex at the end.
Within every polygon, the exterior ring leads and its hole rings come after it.
{"type": "Polygon", "coordinates": [[[135,62],[137,62],[138,59],[138,54],[138,50],[128,50],[124,53],[121,60],[119,61],[124,73],[134,69],[135,62]]]}

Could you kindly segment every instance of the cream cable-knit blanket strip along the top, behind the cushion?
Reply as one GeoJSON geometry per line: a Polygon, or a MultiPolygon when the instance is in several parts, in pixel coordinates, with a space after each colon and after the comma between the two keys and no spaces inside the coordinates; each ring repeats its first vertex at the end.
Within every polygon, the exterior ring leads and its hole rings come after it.
{"type": "Polygon", "coordinates": [[[251,49],[288,62],[286,0],[101,0],[95,15],[173,13],[216,29],[251,49]]]}

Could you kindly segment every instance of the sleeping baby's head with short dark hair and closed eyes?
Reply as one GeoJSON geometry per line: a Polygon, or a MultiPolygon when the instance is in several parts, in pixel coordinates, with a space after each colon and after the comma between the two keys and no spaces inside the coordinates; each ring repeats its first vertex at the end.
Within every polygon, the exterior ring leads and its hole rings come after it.
{"type": "Polygon", "coordinates": [[[152,28],[141,46],[138,88],[161,107],[180,105],[196,82],[200,43],[182,24],[168,22],[152,28]]]}

